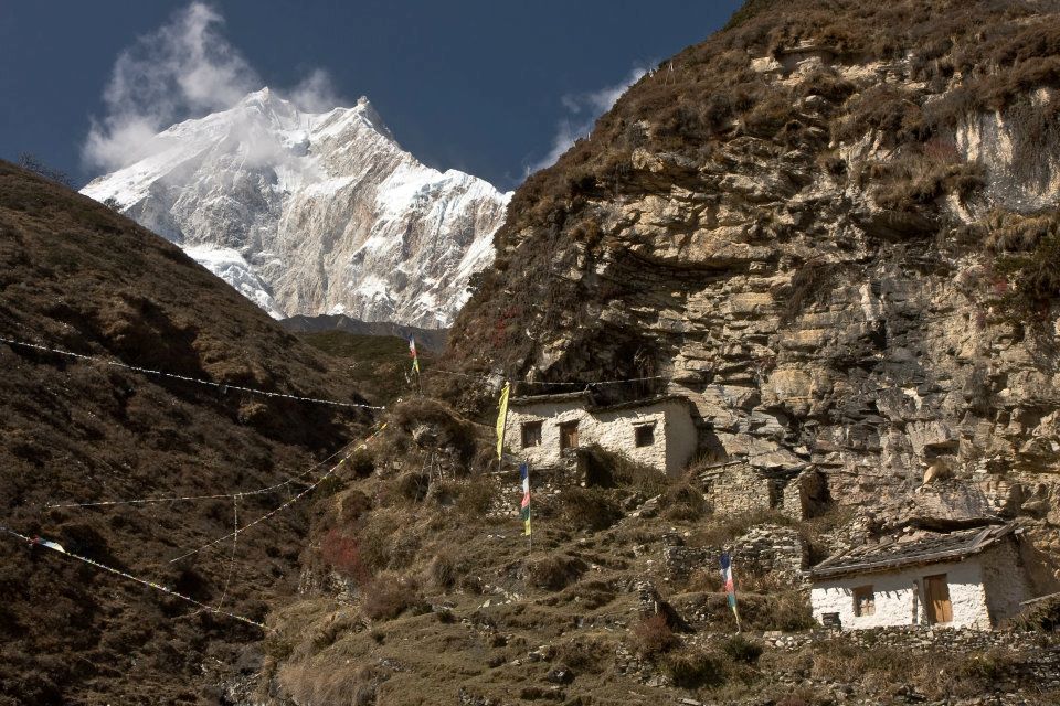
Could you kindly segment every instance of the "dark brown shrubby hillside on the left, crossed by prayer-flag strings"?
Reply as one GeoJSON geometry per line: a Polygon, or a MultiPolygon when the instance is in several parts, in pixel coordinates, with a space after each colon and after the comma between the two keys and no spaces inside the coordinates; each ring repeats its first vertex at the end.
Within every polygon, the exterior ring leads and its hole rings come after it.
{"type": "MultiPolygon", "coordinates": [[[[231,532],[232,500],[46,509],[232,493],[309,470],[367,427],[365,410],[145,375],[146,368],[347,403],[326,359],[179,248],[96,202],[0,162],[0,525],[61,543],[211,606],[261,619],[296,585],[303,504],[231,532]],[[233,568],[234,567],[234,568],[233,568]],[[230,570],[232,575],[230,577],[230,570]]],[[[324,467],[327,468],[327,467],[324,467]]],[[[289,500],[240,499],[243,524],[289,500]]],[[[308,505],[309,503],[305,503],[308,505]]],[[[216,703],[250,625],[0,538],[0,703],[216,703]]],[[[253,655],[246,656],[253,662],[253,655]]]]}

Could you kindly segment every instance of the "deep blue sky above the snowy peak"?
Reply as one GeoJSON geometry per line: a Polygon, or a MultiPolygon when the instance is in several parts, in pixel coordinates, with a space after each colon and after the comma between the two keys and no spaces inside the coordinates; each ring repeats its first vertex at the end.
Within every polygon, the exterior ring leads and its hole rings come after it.
{"type": "MultiPolygon", "coordinates": [[[[93,120],[105,128],[115,111],[104,92],[119,55],[149,53],[138,38],[155,33],[157,44],[190,4],[0,2],[0,157],[32,152],[81,184],[103,169],[84,146],[93,120]]],[[[206,10],[210,51],[235,62],[239,86],[293,90],[324,77],[324,93],[344,105],[367,95],[422,161],[511,189],[638,69],[706,39],[739,4],[233,0],[206,10]]],[[[194,117],[216,100],[178,101],[165,115],[194,117]]]]}

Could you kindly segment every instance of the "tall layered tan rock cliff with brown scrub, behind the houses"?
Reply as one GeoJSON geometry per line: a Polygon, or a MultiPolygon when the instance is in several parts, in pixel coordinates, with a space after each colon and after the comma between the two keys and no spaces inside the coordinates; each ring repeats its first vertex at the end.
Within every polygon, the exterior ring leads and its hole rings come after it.
{"type": "Polygon", "coordinates": [[[1021,516],[1060,553],[1060,15],[797,4],[749,3],[520,189],[452,345],[658,375],[708,459],[819,471],[862,532],[1021,516]]]}

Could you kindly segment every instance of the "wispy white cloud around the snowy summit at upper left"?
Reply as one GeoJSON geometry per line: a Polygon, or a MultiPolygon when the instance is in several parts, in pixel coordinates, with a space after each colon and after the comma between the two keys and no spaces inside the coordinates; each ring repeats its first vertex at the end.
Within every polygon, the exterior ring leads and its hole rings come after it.
{"type": "MultiPolygon", "coordinates": [[[[113,171],[160,148],[155,136],[189,117],[231,108],[263,82],[221,33],[224,18],[200,0],[121,52],[103,94],[106,115],[93,119],[82,150],[86,164],[113,171]]],[[[330,77],[315,69],[289,92],[303,110],[339,105],[330,77]]],[[[259,142],[252,127],[239,136],[252,161],[279,146],[259,142]]],[[[272,139],[269,138],[269,141],[272,139]]]]}

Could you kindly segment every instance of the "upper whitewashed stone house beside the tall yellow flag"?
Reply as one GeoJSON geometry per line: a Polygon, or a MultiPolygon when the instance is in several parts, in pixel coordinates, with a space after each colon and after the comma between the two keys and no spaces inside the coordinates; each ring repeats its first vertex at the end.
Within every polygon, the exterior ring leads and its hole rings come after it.
{"type": "Polygon", "coordinates": [[[685,397],[597,406],[587,393],[570,393],[513,397],[508,403],[505,443],[537,467],[558,466],[566,449],[598,443],[677,474],[696,453],[698,437],[685,397]]]}

